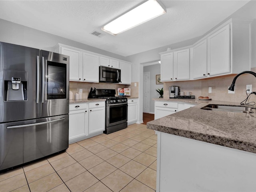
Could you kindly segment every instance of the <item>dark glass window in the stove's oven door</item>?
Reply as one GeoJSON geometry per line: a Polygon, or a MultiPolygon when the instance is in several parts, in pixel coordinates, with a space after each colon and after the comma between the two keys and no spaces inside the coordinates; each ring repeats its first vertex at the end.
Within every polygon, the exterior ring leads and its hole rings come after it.
{"type": "Polygon", "coordinates": [[[110,106],[109,108],[109,123],[120,122],[127,120],[127,104],[110,106]]]}

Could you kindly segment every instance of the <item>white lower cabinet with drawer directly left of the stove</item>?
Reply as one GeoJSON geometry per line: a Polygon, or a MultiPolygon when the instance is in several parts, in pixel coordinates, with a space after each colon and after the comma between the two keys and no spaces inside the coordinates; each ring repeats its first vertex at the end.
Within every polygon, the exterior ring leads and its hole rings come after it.
{"type": "Polygon", "coordinates": [[[93,134],[105,129],[105,102],[89,103],[88,133],[93,134]]]}

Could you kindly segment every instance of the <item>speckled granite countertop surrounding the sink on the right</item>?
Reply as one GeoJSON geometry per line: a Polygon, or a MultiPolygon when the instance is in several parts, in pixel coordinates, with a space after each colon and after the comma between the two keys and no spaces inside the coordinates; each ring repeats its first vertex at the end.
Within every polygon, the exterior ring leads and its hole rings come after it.
{"type": "MultiPolygon", "coordinates": [[[[163,100],[163,99],[155,99],[163,100]]],[[[197,104],[194,107],[150,121],[147,128],[212,144],[256,153],[256,110],[235,113],[202,110],[208,104],[240,105],[216,100],[164,99],[197,104]]]]}

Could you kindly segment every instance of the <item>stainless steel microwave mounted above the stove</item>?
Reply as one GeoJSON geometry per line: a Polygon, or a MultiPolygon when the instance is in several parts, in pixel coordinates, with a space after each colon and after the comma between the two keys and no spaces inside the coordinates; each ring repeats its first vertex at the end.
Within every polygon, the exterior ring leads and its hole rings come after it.
{"type": "Polygon", "coordinates": [[[121,70],[100,66],[99,82],[119,83],[121,82],[121,70]]]}

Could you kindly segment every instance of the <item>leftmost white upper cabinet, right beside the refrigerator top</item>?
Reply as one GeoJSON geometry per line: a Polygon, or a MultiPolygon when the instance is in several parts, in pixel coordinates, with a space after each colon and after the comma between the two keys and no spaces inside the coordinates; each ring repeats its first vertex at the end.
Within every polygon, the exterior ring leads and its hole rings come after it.
{"type": "Polygon", "coordinates": [[[81,81],[83,76],[83,58],[82,52],[69,46],[59,44],[58,51],[60,54],[69,56],[69,80],[81,81]]]}

